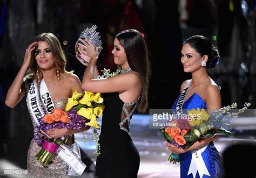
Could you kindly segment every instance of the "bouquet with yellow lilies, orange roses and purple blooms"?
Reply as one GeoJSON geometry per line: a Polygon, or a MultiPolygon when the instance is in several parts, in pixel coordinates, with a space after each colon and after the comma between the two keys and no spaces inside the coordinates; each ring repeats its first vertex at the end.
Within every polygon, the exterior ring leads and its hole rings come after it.
{"type": "MultiPolygon", "coordinates": [[[[39,126],[35,128],[34,139],[38,145],[42,146],[42,149],[36,155],[38,161],[43,166],[47,166],[58,147],[62,148],[61,144],[68,141],[68,137],[54,141],[47,130],[64,127],[69,130],[80,130],[86,126],[99,128],[96,118],[102,115],[103,109],[103,98],[100,97],[99,93],[94,94],[85,91],[85,94],[80,94],[74,90],[72,97],[68,98],[66,112],[62,109],[53,109],[53,112],[45,115],[39,126]]],[[[97,153],[98,150],[97,147],[97,153]]]]}

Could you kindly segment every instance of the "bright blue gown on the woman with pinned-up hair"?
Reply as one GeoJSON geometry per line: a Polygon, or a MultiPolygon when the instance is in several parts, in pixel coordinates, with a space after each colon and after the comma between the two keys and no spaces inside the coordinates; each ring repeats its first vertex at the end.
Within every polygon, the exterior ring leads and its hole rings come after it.
{"type": "MultiPolygon", "coordinates": [[[[179,99],[179,97],[178,97],[179,99]]],[[[176,105],[178,102],[178,99],[173,104],[172,109],[176,109],[176,105]]],[[[190,98],[188,98],[183,106],[182,109],[206,109],[206,103],[204,100],[198,95],[193,94],[190,98]]],[[[221,158],[219,155],[219,152],[215,148],[213,142],[209,143],[205,149],[205,151],[201,154],[203,157],[203,160],[205,162],[205,166],[210,173],[211,176],[207,176],[204,174],[205,177],[221,177],[223,175],[223,166],[221,162],[221,158]]],[[[180,177],[193,177],[192,173],[190,175],[187,175],[188,169],[190,168],[190,163],[192,160],[192,153],[191,151],[187,151],[183,154],[179,154],[180,158],[180,177]]],[[[196,177],[199,178],[199,173],[197,172],[196,177]]]]}

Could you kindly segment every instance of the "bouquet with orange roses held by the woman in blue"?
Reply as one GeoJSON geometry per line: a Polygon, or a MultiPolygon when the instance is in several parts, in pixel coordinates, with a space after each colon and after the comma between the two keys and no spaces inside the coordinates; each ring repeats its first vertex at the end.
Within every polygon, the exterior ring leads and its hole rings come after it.
{"type": "MultiPolygon", "coordinates": [[[[167,142],[183,149],[191,146],[200,138],[213,138],[217,135],[232,136],[231,119],[237,118],[250,105],[250,103],[245,103],[244,108],[238,112],[231,112],[231,109],[237,108],[237,104],[233,103],[210,115],[204,109],[188,110],[188,119],[173,120],[169,124],[171,126],[163,127],[160,131],[167,142]]],[[[168,160],[173,163],[179,162],[179,154],[171,153],[168,160]]]]}

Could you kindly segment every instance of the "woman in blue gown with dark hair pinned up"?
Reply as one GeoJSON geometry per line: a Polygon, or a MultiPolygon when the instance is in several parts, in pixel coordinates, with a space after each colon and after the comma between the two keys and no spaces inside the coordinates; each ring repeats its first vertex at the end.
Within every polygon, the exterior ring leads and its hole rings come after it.
{"type": "MultiPolygon", "coordinates": [[[[220,92],[217,84],[208,76],[207,68],[212,68],[219,60],[219,53],[210,39],[195,35],[186,39],[181,50],[184,72],[190,72],[192,79],[181,84],[177,101],[172,109],[207,109],[208,113],[221,108],[220,92]]],[[[183,149],[167,143],[167,148],[179,154],[180,177],[221,177],[223,166],[219,152],[213,144],[214,138],[202,138],[183,149]]]]}

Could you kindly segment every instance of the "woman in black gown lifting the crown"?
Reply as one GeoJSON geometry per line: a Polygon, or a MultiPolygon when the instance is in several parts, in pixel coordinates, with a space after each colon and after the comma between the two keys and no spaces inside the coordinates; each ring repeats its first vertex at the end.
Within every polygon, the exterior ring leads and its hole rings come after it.
{"type": "Polygon", "coordinates": [[[129,124],[137,106],[139,112],[147,110],[150,63],[144,38],[137,30],[116,35],[112,54],[114,63],[122,67],[122,72],[104,80],[93,80],[97,73],[98,54],[89,40],[82,41],[86,47],[79,44],[78,50],[84,59],[90,59],[82,87],[103,93],[105,104],[96,175],[99,178],[137,177],[139,153],[131,139],[129,124]]]}

